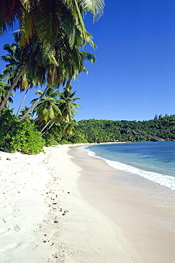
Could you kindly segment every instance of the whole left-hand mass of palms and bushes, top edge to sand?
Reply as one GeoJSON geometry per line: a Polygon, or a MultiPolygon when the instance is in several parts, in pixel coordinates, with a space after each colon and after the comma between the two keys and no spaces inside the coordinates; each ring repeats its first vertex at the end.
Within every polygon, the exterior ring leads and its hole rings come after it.
{"type": "Polygon", "coordinates": [[[83,18],[92,14],[97,21],[103,9],[103,0],[0,1],[0,34],[18,27],[14,43],[4,44],[7,53],[1,55],[6,62],[0,75],[1,150],[36,154],[73,135],[80,105],[71,81],[87,72],[86,61],[96,60],[83,49],[96,47],[83,18]],[[23,107],[27,93],[38,87],[44,90],[36,91],[31,107],[23,107]],[[24,97],[15,115],[9,102],[16,90],[24,97]]]}

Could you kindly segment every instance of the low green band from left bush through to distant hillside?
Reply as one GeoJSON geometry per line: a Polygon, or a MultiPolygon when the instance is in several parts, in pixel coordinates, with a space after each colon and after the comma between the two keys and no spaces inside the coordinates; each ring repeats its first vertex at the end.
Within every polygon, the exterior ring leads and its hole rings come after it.
{"type": "Polygon", "coordinates": [[[64,121],[63,117],[59,122],[46,122],[29,115],[18,122],[10,109],[4,109],[0,127],[0,149],[24,154],[38,154],[43,146],[57,144],[175,140],[175,115],[143,122],[102,119],[76,122],[75,119],[64,121]]]}

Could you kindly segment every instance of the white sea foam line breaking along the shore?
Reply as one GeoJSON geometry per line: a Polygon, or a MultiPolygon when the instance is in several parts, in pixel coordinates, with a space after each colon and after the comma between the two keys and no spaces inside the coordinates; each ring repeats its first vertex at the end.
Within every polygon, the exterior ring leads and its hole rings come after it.
{"type": "Polygon", "coordinates": [[[89,151],[86,147],[84,147],[83,149],[85,149],[85,151],[88,151],[89,156],[92,156],[98,159],[102,159],[109,166],[112,166],[113,168],[117,170],[136,174],[137,176],[142,176],[150,181],[153,181],[154,183],[159,183],[159,185],[161,186],[166,186],[168,188],[171,188],[171,190],[175,190],[175,178],[173,176],[163,176],[160,173],[154,173],[152,171],[144,171],[142,169],[135,168],[125,163],[120,163],[118,161],[110,161],[108,159],[103,159],[100,156],[97,156],[93,151],[89,151]]]}

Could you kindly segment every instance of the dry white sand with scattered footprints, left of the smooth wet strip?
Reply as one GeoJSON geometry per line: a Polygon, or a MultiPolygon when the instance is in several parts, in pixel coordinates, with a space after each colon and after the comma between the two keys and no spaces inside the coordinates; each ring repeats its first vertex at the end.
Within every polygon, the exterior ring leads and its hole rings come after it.
{"type": "MultiPolygon", "coordinates": [[[[92,198],[98,197],[90,193],[87,175],[83,181],[83,167],[68,154],[69,148],[51,146],[44,149],[46,154],[33,156],[0,151],[0,262],[155,262],[157,252],[151,250],[142,257],[122,229],[123,213],[116,223],[102,213],[102,203],[98,209],[100,200],[93,204],[92,198]],[[147,261],[150,254],[153,260],[147,261]]],[[[86,161],[85,155],[83,158],[86,161]]],[[[99,183],[95,180],[92,191],[95,182],[99,183]]],[[[126,189],[121,187],[120,194],[124,193],[126,189]]],[[[124,209],[128,211],[126,203],[124,209]]],[[[125,224],[130,220],[129,213],[126,215],[125,224]]],[[[137,222],[134,225],[137,229],[137,222]]],[[[160,237],[164,236],[160,233],[160,237]]],[[[144,238],[147,245],[150,240],[144,238]]],[[[165,246],[169,249],[164,252],[166,261],[161,255],[156,262],[174,262],[170,243],[165,246]]]]}

